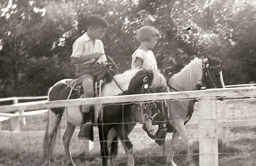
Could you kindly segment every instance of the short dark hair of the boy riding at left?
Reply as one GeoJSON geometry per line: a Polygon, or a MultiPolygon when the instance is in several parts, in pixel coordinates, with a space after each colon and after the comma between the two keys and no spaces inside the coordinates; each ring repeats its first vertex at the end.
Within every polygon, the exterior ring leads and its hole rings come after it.
{"type": "Polygon", "coordinates": [[[89,28],[90,26],[93,27],[108,27],[108,22],[99,14],[91,14],[87,17],[86,26],[89,28]]]}

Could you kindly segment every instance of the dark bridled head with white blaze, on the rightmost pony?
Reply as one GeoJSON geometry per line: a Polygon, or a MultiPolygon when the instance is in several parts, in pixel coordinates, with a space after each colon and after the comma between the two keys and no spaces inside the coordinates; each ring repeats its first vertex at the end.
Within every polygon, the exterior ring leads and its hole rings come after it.
{"type": "Polygon", "coordinates": [[[203,83],[208,88],[224,88],[222,77],[221,60],[218,57],[207,55],[207,60],[202,64],[203,83]]]}

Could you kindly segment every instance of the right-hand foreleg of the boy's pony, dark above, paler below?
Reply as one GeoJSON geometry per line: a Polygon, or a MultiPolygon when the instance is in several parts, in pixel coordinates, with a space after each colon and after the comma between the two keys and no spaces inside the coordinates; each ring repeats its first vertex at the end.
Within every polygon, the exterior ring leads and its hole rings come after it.
{"type": "Polygon", "coordinates": [[[134,166],[133,145],[128,138],[128,133],[126,133],[123,128],[123,125],[115,126],[117,135],[119,136],[122,146],[125,149],[125,153],[127,156],[127,166],[134,166]]]}

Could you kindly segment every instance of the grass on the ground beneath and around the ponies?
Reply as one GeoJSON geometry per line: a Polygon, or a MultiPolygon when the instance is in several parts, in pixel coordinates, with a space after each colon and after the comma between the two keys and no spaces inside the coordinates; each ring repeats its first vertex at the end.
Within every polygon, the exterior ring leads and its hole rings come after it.
{"type": "MultiPolygon", "coordinates": [[[[197,106],[195,106],[197,109],[197,106]]],[[[218,106],[218,112],[221,107],[218,106]]],[[[251,104],[229,104],[227,106],[228,118],[254,118],[256,106],[251,104]],[[241,112],[246,112],[243,114],[241,112]],[[242,116],[242,115],[243,116],[242,116]]],[[[218,114],[219,116],[219,114],[218,114]]],[[[197,112],[192,116],[191,122],[197,121],[197,112]]],[[[22,131],[44,130],[46,117],[26,118],[26,126],[21,126],[22,131]]],[[[61,128],[66,126],[65,120],[61,121],[61,128]]],[[[1,123],[2,129],[10,129],[10,122],[1,123]]],[[[77,128],[79,129],[79,128],[77,128]]],[[[199,165],[199,143],[198,131],[189,130],[189,137],[192,138],[192,152],[195,162],[199,165]]],[[[165,163],[167,147],[170,145],[171,133],[166,136],[165,154],[163,146],[158,146],[154,140],[149,138],[145,132],[131,133],[129,138],[134,145],[134,160],[136,166],[168,166],[165,163]]],[[[98,139],[96,137],[96,139],[98,139]]],[[[0,137],[0,166],[42,166],[43,159],[43,137],[5,138],[0,137]]],[[[99,142],[94,143],[92,151],[85,150],[86,142],[78,140],[77,135],[73,135],[70,144],[70,151],[77,166],[101,166],[99,142]]],[[[177,141],[174,161],[178,166],[186,166],[186,151],[183,140],[177,141]]],[[[227,143],[218,142],[219,166],[256,166],[256,127],[237,127],[229,128],[227,131],[227,143]]],[[[58,141],[54,149],[54,166],[64,164],[64,147],[62,141],[58,141]]],[[[125,152],[119,143],[119,152],[114,166],[126,166],[125,152]]]]}

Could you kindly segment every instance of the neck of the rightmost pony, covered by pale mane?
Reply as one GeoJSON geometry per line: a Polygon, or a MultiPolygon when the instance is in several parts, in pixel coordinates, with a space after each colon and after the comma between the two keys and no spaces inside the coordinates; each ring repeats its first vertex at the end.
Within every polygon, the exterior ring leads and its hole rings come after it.
{"type": "Polygon", "coordinates": [[[195,57],[179,73],[169,78],[169,86],[177,91],[192,91],[197,84],[202,85],[202,62],[195,57]]]}

